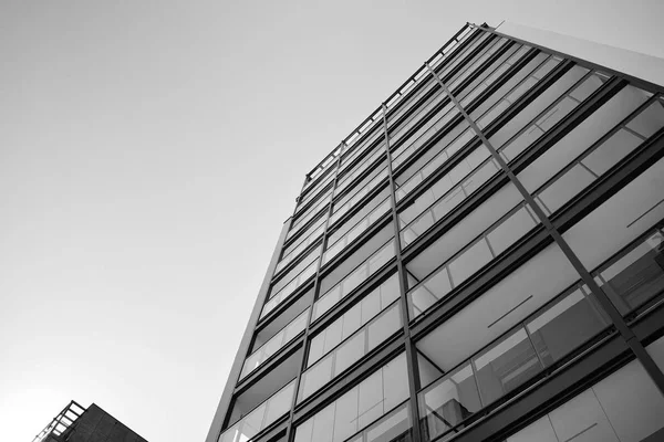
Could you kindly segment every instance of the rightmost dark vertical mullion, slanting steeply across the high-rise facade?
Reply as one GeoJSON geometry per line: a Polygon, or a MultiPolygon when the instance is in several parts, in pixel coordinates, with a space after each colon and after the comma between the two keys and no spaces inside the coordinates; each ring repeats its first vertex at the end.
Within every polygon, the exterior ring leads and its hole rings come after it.
{"type": "MultiPolygon", "coordinates": [[[[485,31],[485,32],[487,32],[487,31],[485,31]]],[[[606,311],[606,314],[613,322],[613,325],[615,325],[615,327],[618,328],[619,333],[621,334],[621,336],[623,337],[623,339],[625,340],[627,346],[632,349],[632,351],[634,352],[636,358],[641,361],[641,364],[643,365],[643,367],[645,368],[645,370],[647,371],[647,373],[650,375],[652,380],[655,382],[655,385],[657,386],[657,388],[660,389],[662,394],[664,394],[664,375],[662,373],[660,368],[655,365],[654,360],[647,354],[647,351],[645,350],[645,348],[643,347],[641,341],[636,338],[636,336],[634,335],[632,329],[627,326],[627,324],[625,323],[624,318],[622,317],[622,315],[620,314],[620,312],[618,311],[615,305],[613,305],[611,299],[600,288],[600,286],[593,280],[593,277],[590,275],[590,273],[588,272],[585,266],[581,263],[581,260],[579,260],[579,257],[572,251],[572,249],[570,248],[568,242],[562,238],[560,232],[558,232],[558,230],[553,227],[553,224],[551,223],[551,221],[549,220],[549,218],[547,217],[544,211],[540,208],[540,206],[536,203],[535,198],[530,194],[530,192],[528,192],[528,190],[526,190],[526,188],[523,187],[521,181],[519,181],[517,179],[513,171],[508,167],[507,162],[505,162],[502,157],[500,157],[500,155],[494,148],[494,145],[487,139],[487,137],[484,135],[481,129],[477,126],[475,120],[468,115],[468,113],[459,104],[459,102],[456,99],[456,97],[452,94],[452,92],[449,91],[447,85],[445,85],[445,83],[443,83],[443,81],[440,80],[438,74],[428,65],[428,63],[425,63],[425,65],[427,66],[429,72],[434,75],[434,77],[438,81],[438,83],[440,84],[440,87],[443,87],[443,90],[445,91],[445,93],[447,94],[449,99],[455,104],[457,109],[461,113],[464,118],[468,122],[468,124],[470,125],[470,127],[473,128],[473,130],[475,131],[477,137],[480,138],[480,140],[484,143],[486,148],[491,154],[491,157],[494,157],[494,160],[498,162],[498,165],[500,166],[502,171],[509,177],[510,181],[516,186],[517,190],[519,190],[519,192],[521,193],[521,196],[523,197],[526,202],[531,207],[535,214],[540,219],[541,223],[544,225],[548,233],[551,235],[553,241],[561,249],[562,253],[566,255],[568,261],[577,270],[577,272],[581,276],[581,280],[583,280],[585,285],[588,285],[590,291],[595,295],[595,297],[598,298],[598,301],[600,302],[602,307],[606,311]]]]}

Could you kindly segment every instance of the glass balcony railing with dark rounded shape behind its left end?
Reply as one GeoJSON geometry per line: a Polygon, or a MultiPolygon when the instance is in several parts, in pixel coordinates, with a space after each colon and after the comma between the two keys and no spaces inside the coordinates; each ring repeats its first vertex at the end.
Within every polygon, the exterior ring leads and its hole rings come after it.
{"type": "Polygon", "coordinates": [[[578,283],[449,372],[438,366],[446,362],[444,356],[418,344],[421,360],[426,361],[421,379],[439,377],[418,394],[426,440],[458,432],[475,413],[527,385],[609,325],[606,314],[578,283]]]}

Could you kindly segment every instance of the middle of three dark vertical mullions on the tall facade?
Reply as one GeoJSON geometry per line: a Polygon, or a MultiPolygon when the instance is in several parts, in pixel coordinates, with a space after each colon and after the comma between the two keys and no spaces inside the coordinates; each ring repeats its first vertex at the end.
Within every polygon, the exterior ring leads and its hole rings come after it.
{"type": "Polygon", "coordinates": [[[385,152],[387,155],[387,176],[390,178],[390,198],[392,199],[392,223],[394,225],[394,249],[396,254],[396,269],[400,283],[400,297],[402,303],[402,322],[404,329],[404,343],[406,347],[406,368],[408,372],[408,387],[411,391],[411,420],[413,421],[413,440],[422,441],[419,429],[419,408],[417,407],[417,389],[419,387],[419,371],[417,368],[417,357],[413,351],[413,341],[411,340],[411,329],[408,328],[408,299],[406,296],[406,278],[404,276],[404,263],[401,253],[401,235],[398,230],[398,218],[396,213],[396,194],[394,185],[394,175],[392,172],[392,152],[390,151],[390,133],[387,130],[387,107],[383,103],[383,128],[385,130],[385,152]]]}

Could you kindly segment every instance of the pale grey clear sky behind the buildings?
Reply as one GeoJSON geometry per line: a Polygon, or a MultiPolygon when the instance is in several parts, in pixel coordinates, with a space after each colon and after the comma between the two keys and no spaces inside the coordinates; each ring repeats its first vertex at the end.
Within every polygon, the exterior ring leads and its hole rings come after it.
{"type": "Polygon", "coordinates": [[[467,21],[664,56],[652,1],[0,2],[0,428],[204,441],[304,173],[467,21]]]}

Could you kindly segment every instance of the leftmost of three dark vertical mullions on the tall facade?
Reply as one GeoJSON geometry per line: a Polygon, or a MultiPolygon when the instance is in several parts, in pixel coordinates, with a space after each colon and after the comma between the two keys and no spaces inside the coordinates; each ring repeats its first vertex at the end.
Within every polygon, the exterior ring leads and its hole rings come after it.
{"type": "Polygon", "coordinates": [[[313,280],[313,301],[309,306],[309,320],[307,322],[307,328],[304,329],[304,340],[302,341],[302,362],[300,364],[300,370],[298,371],[298,376],[295,379],[295,391],[293,393],[293,401],[291,403],[291,409],[288,418],[288,427],[286,429],[286,440],[290,441],[291,434],[293,432],[293,417],[295,412],[295,407],[298,404],[298,397],[300,392],[300,382],[302,381],[302,373],[307,370],[307,359],[309,358],[309,341],[311,340],[309,337],[309,328],[311,326],[311,317],[313,315],[313,305],[317,301],[317,292],[319,291],[320,275],[321,275],[321,266],[323,260],[323,253],[325,252],[325,243],[328,241],[328,230],[330,229],[330,217],[332,217],[332,209],[334,208],[334,190],[336,189],[336,181],[339,179],[339,168],[341,166],[341,156],[343,155],[346,148],[346,144],[341,141],[341,150],[339,151],[339,157],[336,158],[336,165],[334,166],[334,179],[332,180],[332,188],[330,189],[330,206],[328,207],[328,219],[325,220],[325,229],[323,231],[323,236],[321,241],[321,253],[318,257],[318,264],[315,270],[315,277],[313,280]]]}

